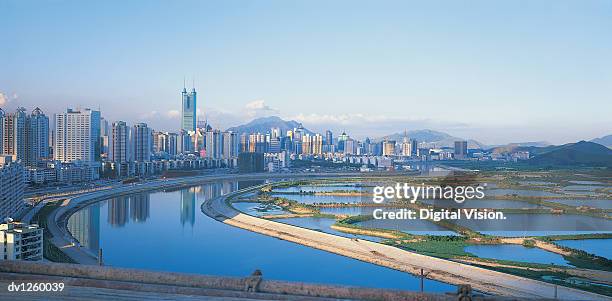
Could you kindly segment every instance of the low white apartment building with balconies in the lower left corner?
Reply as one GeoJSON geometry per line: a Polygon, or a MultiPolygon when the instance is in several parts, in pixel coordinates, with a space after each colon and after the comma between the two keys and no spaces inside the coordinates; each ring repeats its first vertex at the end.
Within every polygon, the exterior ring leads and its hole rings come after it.
{"type": "Polygon", "coordinates": [[[0,260],[43,259],[43,229],[7,220],[0,224],[0,260]]]}

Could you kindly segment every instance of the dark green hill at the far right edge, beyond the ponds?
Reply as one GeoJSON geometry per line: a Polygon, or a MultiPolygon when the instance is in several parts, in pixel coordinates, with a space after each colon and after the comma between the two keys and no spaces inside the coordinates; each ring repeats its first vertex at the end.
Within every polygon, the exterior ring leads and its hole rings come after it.
{"type": "Polygon", "coordinates": [[[528,160],[532,165],[612,167],[612,149],[601,144],[580,141],[546,147],[528,160]]]}

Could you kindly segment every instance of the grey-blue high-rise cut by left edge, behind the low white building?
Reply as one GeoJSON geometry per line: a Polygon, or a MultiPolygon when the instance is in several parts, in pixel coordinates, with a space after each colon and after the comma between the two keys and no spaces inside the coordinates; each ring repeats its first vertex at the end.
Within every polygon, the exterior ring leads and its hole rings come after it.
{"type": "Polygon", "coordinates": [[[25,207],[24,171],[16,158],[17,155],[0,155],[0,220],[15,217],[25,207]]]}

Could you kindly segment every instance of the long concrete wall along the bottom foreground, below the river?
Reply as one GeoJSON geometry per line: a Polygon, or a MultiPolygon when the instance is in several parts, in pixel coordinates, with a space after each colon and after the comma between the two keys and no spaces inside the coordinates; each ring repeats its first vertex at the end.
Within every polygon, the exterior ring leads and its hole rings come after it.
{"type": "Polygon", "coordinates": [[[23,275],[38,275],[64,278],[85,278],[99,281],[117,281],[136,283],[131,286],[146,291],[147,285],[163,284],[172,287],[191,287],[244,292],[248,294],[267,293],[275,295],[293,295],[308,297],[327,297],[353,300],[424,300],[445,301],[457,300],[457,296],[444,294],[417,293],[398,290],[358,288],[347,286],[331,286],[307,284],[301,282],[285,282],[263,280],[261,277],[216,277],[196,274],[170,272],[151,272],[136,269],[87,266],[64,263],[35,263],[24,261],[0,261],[0,273],[17,273],[23,275]],[[250,293],[249,293],[250,292],[250,293]]]}

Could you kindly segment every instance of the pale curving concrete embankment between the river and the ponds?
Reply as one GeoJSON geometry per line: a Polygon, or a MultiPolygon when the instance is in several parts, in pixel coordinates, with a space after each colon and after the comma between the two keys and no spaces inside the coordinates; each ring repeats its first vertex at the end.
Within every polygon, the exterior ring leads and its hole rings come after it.
{"type": "Polygon", "coordinates": [[[419,274],[423,269],[430,279],[452,284],[470,284],[473,288],[487,293],[514,297],[557,296],[570,300],[611,300],[603,295],[556,287],[546,282],[416,254],[392,246],[339,237],[246,215],[228,204],[228,198],[246,192],[248,190],[207,200],[202,204],[202,210],[208,216],[235,227],[412,274],[419,274]]]}

